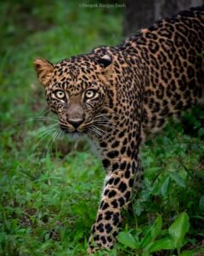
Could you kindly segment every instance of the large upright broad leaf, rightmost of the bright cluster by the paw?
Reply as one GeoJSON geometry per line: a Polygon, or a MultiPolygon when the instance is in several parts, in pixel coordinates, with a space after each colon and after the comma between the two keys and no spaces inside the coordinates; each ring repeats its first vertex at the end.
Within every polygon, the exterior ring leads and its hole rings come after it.
{"type": "Polygon", "coordinates": [[[189,230],[189,216],[182,212],[168,228],[169,235],[173,240],[173,245],[180,248],[183,245],[185,233],[189,230]]]}

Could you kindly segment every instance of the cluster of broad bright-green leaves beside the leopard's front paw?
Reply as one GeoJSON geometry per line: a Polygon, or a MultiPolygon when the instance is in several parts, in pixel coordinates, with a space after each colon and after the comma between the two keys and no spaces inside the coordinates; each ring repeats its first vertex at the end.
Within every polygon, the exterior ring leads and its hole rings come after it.
{"type": "Polygon", "coordinates": [[[158,215],[154,224],[147,230],[135,230],[135,237],[130,231],[122,231],[117,236],[117,240],[122,243],[123,247],[134,249],[133,255],[137,253],[138,255],[150,256],[150,253],[173,249],[177,249],[178,255],[182,255],[180,249],[184,246],[184,236],[189,230],[189,217],[186,212],[179,214],[168,230],[161,229],[162,218],[161,215],[158,215]],[[159,238],[160,236],[161,238],[159,238]]]}

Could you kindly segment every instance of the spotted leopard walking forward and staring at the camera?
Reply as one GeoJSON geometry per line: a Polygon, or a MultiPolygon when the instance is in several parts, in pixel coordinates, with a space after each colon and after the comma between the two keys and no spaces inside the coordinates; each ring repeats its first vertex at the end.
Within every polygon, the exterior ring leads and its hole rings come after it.
{"type": "Polygon", "coordinates": [[[204,7],[156,21],[116,46],[34,68],[49,108],[67,135],[88,137],[99,150],[105,182],[88,253],[116,244],[122,209],[142,177],[146,137],[204,100],[204,7]]]}

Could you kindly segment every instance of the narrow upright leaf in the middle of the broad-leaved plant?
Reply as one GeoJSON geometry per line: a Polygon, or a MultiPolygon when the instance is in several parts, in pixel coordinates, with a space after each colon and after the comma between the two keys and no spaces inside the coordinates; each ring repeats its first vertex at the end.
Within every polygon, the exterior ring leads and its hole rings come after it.
{"type": "Polygon", "coordinates": [[[162,218],[161,218],[161,215],[158,215],[155,223],[152,224],[152,226],[150,227],[150,229],[147,231],[146,235],[142,239],[141,247],[144,248],[149,246],[150,242],[154,241],[156,239],[156,236],[160,234],[161,228],[162,228],[162,218]]]}

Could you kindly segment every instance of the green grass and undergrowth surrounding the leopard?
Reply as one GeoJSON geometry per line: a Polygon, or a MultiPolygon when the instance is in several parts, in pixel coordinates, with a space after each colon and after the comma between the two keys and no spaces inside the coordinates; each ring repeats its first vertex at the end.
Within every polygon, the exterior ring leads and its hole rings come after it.
{"type": "MultiPolygon", "coordinates": [[[[74,1],[40,2],[0,3],[0,255],[87,255],[105,172],[88,143],[65,137],[52,146],[49,138],[39,143],[33,132],[48,121],[23,121],[47,108],[34,58],[59,61],[98,45],[118,44],[122,12],[82,9],[74,1]]],[[[187,212],[190,229],[181,251],[203,255],[203,112],[197,108],[185,119],[190,131],[173,123],[144,145],[143,189],[133,198],[132,210],[124,210],[121,231],[140,241],[160,213],[159,240],[179,213],[187,212]]],[[[141,252],[121,241],[111,253],[96,255],[141,252]]]]}

